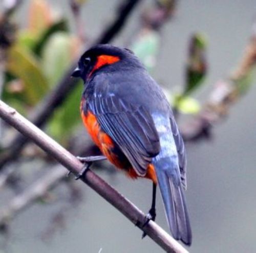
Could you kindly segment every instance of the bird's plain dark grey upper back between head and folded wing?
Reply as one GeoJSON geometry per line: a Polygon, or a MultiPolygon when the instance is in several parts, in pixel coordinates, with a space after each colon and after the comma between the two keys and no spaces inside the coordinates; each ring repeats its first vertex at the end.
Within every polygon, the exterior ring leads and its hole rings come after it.
{"type": "Polygon", "coordinates": [[[102,72],[88,84],[91,98],[118,99],[152,111],[169,110],[169,103],[157,82],[144,70],[102,72]]]}

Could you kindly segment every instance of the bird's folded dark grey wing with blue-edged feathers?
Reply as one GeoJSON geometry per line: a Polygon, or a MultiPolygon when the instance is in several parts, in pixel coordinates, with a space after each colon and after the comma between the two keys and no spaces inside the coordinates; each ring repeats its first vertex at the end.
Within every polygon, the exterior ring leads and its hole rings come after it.
{"type": "Polygon", "coordinates": [[[127,104],[113,94],[94,96],[87,103],[103,131],[122,150],[137,174],[144,176],[152,157],[160,152],[151,114],[142,106],[127,104]]]}

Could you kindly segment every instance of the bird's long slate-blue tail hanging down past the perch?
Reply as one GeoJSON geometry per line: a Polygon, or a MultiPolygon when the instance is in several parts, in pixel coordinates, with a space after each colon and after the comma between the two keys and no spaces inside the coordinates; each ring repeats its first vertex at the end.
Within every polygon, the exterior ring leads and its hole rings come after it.
{"type": "Polygon", "coordinates": [[[155,159],[154,166],[170,231],[176,240],[190,245],[191,228],[179,168],[170,157],[155,159]]]}

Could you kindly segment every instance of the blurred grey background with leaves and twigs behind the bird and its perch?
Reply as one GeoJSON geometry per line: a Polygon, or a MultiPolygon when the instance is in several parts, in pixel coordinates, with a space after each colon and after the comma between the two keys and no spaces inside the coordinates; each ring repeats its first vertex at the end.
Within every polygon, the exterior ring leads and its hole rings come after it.
{"type": "MultiPolygon", "coordinates": [[[[83,129],[77,58],[133,50],[164,88],[186,142],[190,252],[255,252],[254,0],[4,0],[0,96],[74,155],[83,129]]],[[[152,184],[93,170],[143,212],[152,184]]],[[[162,252],[109,203],[0,121],[0,252],[162,252]]],[[[158,192],[156,222],[168,231],[158,192]]]]}

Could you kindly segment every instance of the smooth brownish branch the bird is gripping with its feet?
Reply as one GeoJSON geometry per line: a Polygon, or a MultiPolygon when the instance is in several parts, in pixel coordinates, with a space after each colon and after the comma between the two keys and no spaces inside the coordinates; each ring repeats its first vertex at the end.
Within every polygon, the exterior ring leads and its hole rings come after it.
{"type": "MultiPolygon", "coordinates": [[[[75,156],[52,140],[47,134],[38,129],[30,121],[26,120],[14,108],[9,107],[1,100],[0,117],[23,133],[26,137],[30,138],[48,154],[52,155],[60,164],[65,166],[75,175],[82,170],[83,164],[81,164],[75,156]]],[[[146,219],[145,215],[133,203],[124,198],[94,172],[88,170],[81,180],[84,183],[87,183],[87,185],[95,190],[106,201],[111,203],[126,218],[144,231],[164,250],[167,252],[187,252],[185,248],[183,248],[155,222],[150,221],[147,225],[143,226],[146,219]]]]}

